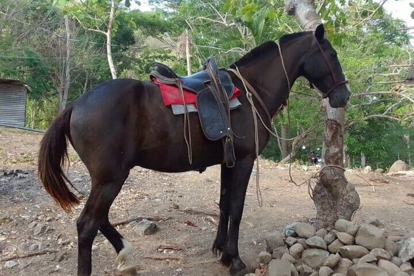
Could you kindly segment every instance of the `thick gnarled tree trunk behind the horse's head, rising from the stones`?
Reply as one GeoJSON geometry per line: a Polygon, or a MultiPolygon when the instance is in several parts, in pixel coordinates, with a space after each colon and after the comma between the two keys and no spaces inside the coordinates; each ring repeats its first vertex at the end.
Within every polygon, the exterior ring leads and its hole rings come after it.
{"type": "MultiPolygon", "coordinates": [[[[294,15],[306,31],[315,31],[321,24],[313,0],[287,0],[286,11],[294,15]]],[[[326,110],[325,139],[322,149],[323,164],[320,179],[313,191],[316,207],[316,224],[318,227],[332,227],[338,218],[351,220],[359,207],[359,195],[350,185],[343,170],[343,125],[345,111],[332,108],[328,100],[323,100],[326,110]],[[327,168],[325,168],[327,167],[327,168]]]]}

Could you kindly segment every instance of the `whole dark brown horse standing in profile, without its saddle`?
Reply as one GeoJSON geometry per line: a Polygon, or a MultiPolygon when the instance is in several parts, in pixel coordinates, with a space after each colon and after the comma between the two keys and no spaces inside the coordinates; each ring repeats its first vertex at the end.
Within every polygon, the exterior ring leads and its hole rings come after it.
{"type": "MultiPolygon", "coordinates": [[[[238,60],[233,68],[236,66],[264,103],[261,105],[254,97],[267,127],[270,120],[265,109],[270,116],[275,115],[289,95],[288,85],[293,85],[299,76],[306,77],[327,94],[332,107],[345,106],[350,96],[336,52],[325,38],[322,25],[315,33],[283,36],[280,51],[275,42],[264,43],[238,60]]],[[[78,152],[92,179],[91,192],[77,221],[79,276],[91,274],[91,247],[98,230],[117,251],[118,270],[123,275],[137,275],[132,245],[108,220],[109,208],[135,166],[181,172],[222,164],[220,220],[213,251],[221,253],[221,262],[230,266],[231,274],[245,268],[237,242],[245,193],[256,159],[255,130],[244,85],[233,72],[230,74],[242,90],[239,97],[242,106],[231,113],[233,130],[242,137],[234,141],[236,165],[233,168],[223,163],[222,143],[205,138],[195,113],[189,115],[193,151],[192,164],[189,164],[183,117],[173,115],[171,108],[164,106],[159,87],[152,82],[131,79],[105,82],[79,97],[53,121],[41,141],[39,153],[39,176],[46,191],[66,211],[79,203],[69,191],[65,183],[68,179],[61,169],[67,156],[66,139],[78,152]]],[[[259,152],[269,137],[258,122],[259,152]]]]}

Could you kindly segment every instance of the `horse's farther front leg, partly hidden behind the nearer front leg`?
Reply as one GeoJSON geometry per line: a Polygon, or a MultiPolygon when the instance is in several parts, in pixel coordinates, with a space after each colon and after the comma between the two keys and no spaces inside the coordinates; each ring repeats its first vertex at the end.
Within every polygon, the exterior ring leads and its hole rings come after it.
{"type": "MultiPolygon", "coordinates": [[[[216,240],[213,243],[213,253],[215,255],[221,254],[224,249],[224,245],[227,240],[227,231],[229,229],[229,191],[228,191],[228,183],[229,179],[228,173],[225,173],[226,165],[221,165],[221,177],[220,177],[220,219],[218,221],[217,227],[217,236],[216,240]]],[[[230,263],[224,264],[226,266],[230,265],[230,263]]]]}

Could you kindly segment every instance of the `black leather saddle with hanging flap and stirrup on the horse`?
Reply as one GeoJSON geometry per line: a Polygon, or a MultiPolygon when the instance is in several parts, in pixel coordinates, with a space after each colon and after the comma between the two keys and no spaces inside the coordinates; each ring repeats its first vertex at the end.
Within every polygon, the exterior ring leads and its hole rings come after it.
{"type": "Polygon", "coordinates": [[[223,139],[225,159],[233,167],[236,158],[233,149],[233,131],[230,125],[229,100],[235,92],[230,75],[218,70],[213,57],[208,57],[202,71],[190,76],[178,76],[165,64],[154,63],[150,78],[159,83],[176,85],[197,94],[198,117],[204,135],[212,141],[223,139]]]}

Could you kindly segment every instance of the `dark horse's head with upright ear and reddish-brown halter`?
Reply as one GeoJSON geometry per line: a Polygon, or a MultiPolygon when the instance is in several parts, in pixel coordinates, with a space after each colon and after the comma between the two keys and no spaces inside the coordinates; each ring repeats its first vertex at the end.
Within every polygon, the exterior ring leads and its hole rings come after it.
{"type": "Polygon", "coordinates": [[[323,93],[324,98],[329,98],[330,106],[344,107],[351,91],[336,51],[325,38],[322,24],[314,35],[315,42],[303,64],[303,75],[323,93]]]}

